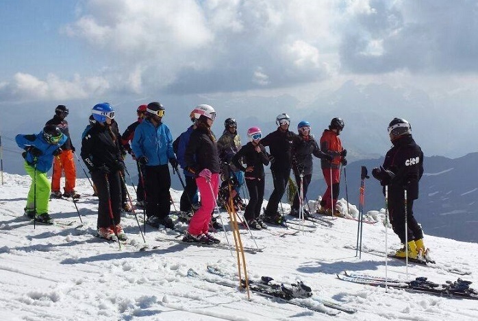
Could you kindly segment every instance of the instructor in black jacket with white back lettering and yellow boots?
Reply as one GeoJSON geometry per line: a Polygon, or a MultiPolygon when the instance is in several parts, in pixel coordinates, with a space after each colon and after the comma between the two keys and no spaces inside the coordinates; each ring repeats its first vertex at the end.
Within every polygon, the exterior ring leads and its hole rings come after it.
{"type": "MultiPolygon", "coordinates": [[[[423,175],[423,152],[412,137],[412,126],[405,119],[394,118],[388,125],[393,147],[387,152],[383,165],[374,168],[373,177],[388,185],[388,210],[390,223],[402,244],[408,246],[408,257],[426,257],[423,231],[413,213],[414,200],[418,198],[418,181],[423,175]],[[405,191],[407,193],[407,234],[405,235],[405,191]],[[406,238],[405,238],[406,237],[406,238]],[[405,241],[405,239],[407,241],[405,241]]],[[[405,257],[405,246],[397,250],[397,257],[405,257]]]]}

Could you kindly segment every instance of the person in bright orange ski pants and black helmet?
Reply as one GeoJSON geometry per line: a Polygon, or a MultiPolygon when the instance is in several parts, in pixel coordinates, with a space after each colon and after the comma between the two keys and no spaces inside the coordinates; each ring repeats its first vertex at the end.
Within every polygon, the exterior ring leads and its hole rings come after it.
{"type": "Polygon", "coordinates": [[[62,151],[60,154],[53,158],[53,174],[51,175],[51,197],[52,198],[74,198],[78,199],[79,193],[75,191],[76,184],[76,169],[75,169],[75,158],[73,153],[75,152],[75,147],[71,142],[70,132],[68,130],[68,121],[65,120],[68,116],[68,108],[64,105],[58,105],[55,108],[55,115],[52,119],[47,121],[46,125],[53,125],[62,131],[66,136],[66,143],[64,143],[61,148],[62,151]],[[65,174],[65,187],[64,193],[60,191],[60,178],[62,178],[62,171],[65,174]]]}

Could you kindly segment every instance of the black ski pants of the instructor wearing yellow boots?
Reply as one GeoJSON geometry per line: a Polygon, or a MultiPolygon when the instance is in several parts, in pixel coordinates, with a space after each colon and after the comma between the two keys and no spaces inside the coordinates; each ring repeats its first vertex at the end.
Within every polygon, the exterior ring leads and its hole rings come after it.
{"type": "MultiPolygon", "coordinates": [[[[405,201],[402,195],[388,196],[388,209],[390,212],[390,223],[395,234],[399,236],[401,243],[405,244],[405,201]]],[[[423,238],[423,230],[416,222],[413,215],[414,200],[407,200],[407,240],[423,238]]]]}

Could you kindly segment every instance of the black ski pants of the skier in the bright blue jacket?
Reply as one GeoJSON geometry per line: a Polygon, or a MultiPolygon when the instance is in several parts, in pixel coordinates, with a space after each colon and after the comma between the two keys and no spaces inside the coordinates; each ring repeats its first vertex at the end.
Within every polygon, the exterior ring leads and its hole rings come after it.
{"type": "Polygon", "coordinates": [[[166,165],[144,166],[146,173],[146,215],[164,219],[171,211],[171,176],[166,165]]]}

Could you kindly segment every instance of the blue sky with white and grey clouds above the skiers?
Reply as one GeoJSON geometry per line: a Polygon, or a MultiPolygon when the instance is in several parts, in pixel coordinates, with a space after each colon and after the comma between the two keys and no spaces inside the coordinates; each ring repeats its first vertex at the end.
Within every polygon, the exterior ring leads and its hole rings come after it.
{"type": "Polygon", "coordinates": [[[19,0],[1,3],[0,25],[9,137],[38,132],[58,104],[79,135],[99,102],[125,128],[160,101],[175,135],[206,103],[242,133],[274,130],[281,112],[316,135],[342,117],[356,158],[386,152],[394,117],[429,156],[477,151],[476,1],[19,0]]]}

